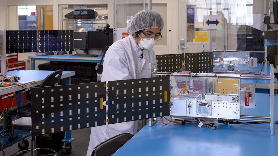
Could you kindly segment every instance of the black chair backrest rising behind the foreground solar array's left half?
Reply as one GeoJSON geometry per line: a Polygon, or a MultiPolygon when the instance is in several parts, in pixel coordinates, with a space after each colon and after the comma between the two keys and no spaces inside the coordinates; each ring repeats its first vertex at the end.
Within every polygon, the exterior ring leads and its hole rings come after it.
{"type": "Polygon", "coordinates": [[[62,70],[59,69],[51,74],[49,74],[40,84],[40,87],[53,86],[59,84],[62,77],[62,70]],[[58,76],[56,76],[58,74],[58,76]]]}

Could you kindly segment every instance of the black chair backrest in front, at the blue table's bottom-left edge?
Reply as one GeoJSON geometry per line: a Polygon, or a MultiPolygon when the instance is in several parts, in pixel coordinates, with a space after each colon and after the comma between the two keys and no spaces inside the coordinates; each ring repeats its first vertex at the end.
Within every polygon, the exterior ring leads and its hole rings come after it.
{"type": "Polygon", "coordinates": [[[105,140],[95,147],[91,156],[111,156],[132,137],[130,133],[122,133],[105,140]]]}

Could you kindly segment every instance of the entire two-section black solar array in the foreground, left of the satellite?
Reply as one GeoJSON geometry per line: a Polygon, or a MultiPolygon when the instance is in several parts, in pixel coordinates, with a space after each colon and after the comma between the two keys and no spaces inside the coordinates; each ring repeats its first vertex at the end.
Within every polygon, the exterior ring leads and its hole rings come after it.
{"type": "Polygon", "coordinates": [[[31,88],[32,136],[168,116],[169,77],[31,88]]]}

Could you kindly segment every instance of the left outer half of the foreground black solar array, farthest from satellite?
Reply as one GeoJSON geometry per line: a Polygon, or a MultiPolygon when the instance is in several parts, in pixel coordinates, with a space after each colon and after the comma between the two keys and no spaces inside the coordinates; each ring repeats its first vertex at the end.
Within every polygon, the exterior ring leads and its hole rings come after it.
{"type": "Polygon", "coordinates": [[[105,125],[104,84],[31,88],[32,136],[105,125]]]}

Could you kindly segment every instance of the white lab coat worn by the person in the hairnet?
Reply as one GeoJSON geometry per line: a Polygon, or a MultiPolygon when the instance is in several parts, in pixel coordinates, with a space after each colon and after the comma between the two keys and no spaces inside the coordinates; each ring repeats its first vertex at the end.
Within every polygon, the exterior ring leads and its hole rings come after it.
{"type": "MultiPolygon", "coordinates": [[[[148,78],[149,63],[154,61],[156,61],[154,50],[141,51],[132,35],[129,35],[113,43],[107,50],[103,62],[101,81],[148,78]],[[141,58],[142,52],[143,58],[141,58]]],[[[137,132],[138,121],[92,127],[87,156],[91,156],[95,147],[109,138],[121,133],[134,135],[137,132]]]]}

